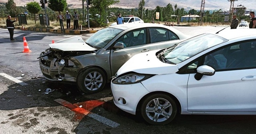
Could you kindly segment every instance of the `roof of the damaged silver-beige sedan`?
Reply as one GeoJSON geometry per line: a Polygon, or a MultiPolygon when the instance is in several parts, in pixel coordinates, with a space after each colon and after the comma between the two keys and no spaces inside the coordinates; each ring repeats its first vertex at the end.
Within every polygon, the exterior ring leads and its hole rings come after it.
{"type": "Polygon", "coordinates": [[[122,24],[122,25],[114,25],[109,26],[109,28],[118,28],[122,30],[127,30],[130,28],[145,28],[145,27],[163,27],[163,28],[170,28],[170,26],[164,26],[162,24],[152,24],[152,23],[138,23],[138,24],[122,24]]]}

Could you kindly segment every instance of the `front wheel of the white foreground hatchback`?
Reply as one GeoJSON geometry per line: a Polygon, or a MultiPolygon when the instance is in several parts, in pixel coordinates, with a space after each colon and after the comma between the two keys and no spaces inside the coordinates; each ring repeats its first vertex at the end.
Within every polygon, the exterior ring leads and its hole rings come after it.
{"type": "Polygon", "coordinates": [[[153,94],[144,99],[140,112],[142,118],[149,124],[164,125],[170,123],[175,118],[177,106],[170,96],[166,94],[153,94]]]}

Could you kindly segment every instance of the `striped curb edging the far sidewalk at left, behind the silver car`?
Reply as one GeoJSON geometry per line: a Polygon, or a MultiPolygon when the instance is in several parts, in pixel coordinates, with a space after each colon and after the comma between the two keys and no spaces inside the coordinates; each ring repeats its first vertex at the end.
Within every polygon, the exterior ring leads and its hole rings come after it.
{"type": "MultiPolygon", "coordinates": [[[[0,26],[0,28],[6,28],[6,26],[0,26]]],[[[14,29],[22,30],[20,26],[14,26],[14,29]]],[[[34,31],[34,32],[48,32],[48,33],[64,33],[64,34],[71,34],[71,35],[81,35],[86,33],[96,33],[99,30],[53,30],[48,28],[25,28],[24,30],[27,31],[34,31]]]]}

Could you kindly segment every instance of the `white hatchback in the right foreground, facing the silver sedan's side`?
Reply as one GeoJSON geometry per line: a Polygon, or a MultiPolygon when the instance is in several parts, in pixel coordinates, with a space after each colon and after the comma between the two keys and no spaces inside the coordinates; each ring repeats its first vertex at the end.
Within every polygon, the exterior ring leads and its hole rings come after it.
{"type": "Polygon", "coordinates": [[[177,113],[256,115],[255,33],[205,33],[134,55],[112,80],[114,103],[156,125],[177,113]]]}

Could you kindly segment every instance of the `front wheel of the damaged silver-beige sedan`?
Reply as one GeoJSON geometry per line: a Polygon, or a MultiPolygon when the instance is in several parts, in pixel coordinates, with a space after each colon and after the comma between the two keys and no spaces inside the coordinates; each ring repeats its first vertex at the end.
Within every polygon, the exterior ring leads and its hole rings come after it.
{"type": "Polygon", "coordinates": [[[105,84],[106,75],[97,67],[90,67],[82,71],[77,77],[78,89],[86,94],[100,92],[105,84]]]}

